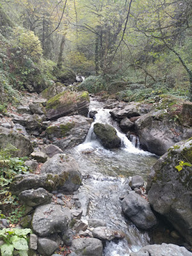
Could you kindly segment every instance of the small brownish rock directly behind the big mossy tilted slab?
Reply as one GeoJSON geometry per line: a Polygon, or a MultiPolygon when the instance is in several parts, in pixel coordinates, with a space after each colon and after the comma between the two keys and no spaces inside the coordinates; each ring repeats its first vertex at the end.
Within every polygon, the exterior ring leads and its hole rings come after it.
{"type": "Polygon", "coordinates": [[[49,86],[47,89],[45,89],[42,93],[40,93],[40,95],[45,99],[49,100],[52,97],[56,96],[57,94],[61,92],[65,92],[66,90],[67,90],[67,87],[64,84],[57,82],[49,86]]]}

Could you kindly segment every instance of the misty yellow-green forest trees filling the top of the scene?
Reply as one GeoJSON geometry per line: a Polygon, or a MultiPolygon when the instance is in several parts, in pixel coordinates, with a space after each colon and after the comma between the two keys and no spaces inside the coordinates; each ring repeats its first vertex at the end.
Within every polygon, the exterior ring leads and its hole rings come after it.
{"type": "Polygon", "coordinates": [[[0,8],[1,34],[41,68],[101,77],[108,91],[136,83],[192,99],[190,0],[2,0],[0,8]]]}

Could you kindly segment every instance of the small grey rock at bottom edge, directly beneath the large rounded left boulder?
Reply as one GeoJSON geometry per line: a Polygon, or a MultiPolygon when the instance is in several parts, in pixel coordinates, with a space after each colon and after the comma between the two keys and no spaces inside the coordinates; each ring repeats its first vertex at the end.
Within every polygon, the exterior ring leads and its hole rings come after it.
{"type": "Polygon", "coordinates": [[[55,241],[47,238],[38,238],[38,253],[40,255],[51,256],[58,249],[58,244],[55,241]]]}

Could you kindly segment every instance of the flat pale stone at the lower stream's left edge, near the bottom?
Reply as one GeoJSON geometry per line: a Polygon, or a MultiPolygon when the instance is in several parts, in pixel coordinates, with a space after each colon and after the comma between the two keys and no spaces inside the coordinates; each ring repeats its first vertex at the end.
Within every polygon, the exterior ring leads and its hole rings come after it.
{"type": "Polygon", "coordinates": [[[102,241],[112,241],[114,239],[124,239],[125,234],[117,230],[106,227],[97,227],[92,230],[93,237],[102,241]]]}

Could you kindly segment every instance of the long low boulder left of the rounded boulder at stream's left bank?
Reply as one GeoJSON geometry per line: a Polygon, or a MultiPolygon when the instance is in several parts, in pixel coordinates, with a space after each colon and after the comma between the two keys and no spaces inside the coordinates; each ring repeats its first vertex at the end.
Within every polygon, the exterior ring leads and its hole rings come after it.
{"type": "Polygon", "coordinates": [[[42,175],[20,174],[14,177],[10,184],[10,191],[13,195],[19,195],[24,190],[38,188],[44,188],[50,192],[62,187],[65,182],[65,177],[52,173],[42,175]]]}

